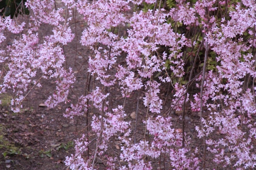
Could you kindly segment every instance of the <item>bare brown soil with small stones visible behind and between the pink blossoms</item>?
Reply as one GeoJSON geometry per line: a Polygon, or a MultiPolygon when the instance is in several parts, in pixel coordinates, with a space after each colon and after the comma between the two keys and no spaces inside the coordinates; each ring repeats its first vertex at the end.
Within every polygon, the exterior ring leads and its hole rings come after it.
{"type": "MultiPolygon", "coordinates": [[[[63,7],[61,3],[57,3],[57,7],[63,7]]],[[[76,96],[84,93],[85,84],[87,80],[87,55],[90,53],[89,49],[81,46],[79,37],[85,27],[82,20],[74,20],[70,26],[72,30],[76,30],[75,39],[64,47],[65,55],[67,57],[67,68],[72,67],[76,75],[76,82],[72,92],[70,92],[70,103],[76,103],[76,96]],[[76,49],[79,53],[76,53],[76,49]]],[[[43,26],[39,30],[39,35],[43,36],[50,34],[51,27],[43,26]]],[[[11,44],[13,38],[18,38],[17,35],[9,35],[2,48],[11,44]]],[[[124,60],[124,57],[120,60],[124,60]]],[[[118,64],[118,63],[117,63],[118,64]]],[[[12,93],[2,94],[3,100],[0,105],[0,170],[64,170],[65,157],[74,152],[74,139],[77,139],[85,130],[85,117],[74,117],[74,119],[66,119],[63,117],[66,108],[69,104],[61,103],[54,109],[45,107],[44,102],[54,92],[56,86],[54,80],[42,80],[42,88],[35,88],[25,99],[23,109],[20,113],[13,113],[9,107],[12,93]]],[[[32,88],[32,85],[31,87],[32,88]]],[[[165,103],[165,110],[170,104],[171,90],[168,90],[168,84],[161,87],[161,99],[165,103]]],[[[110,101],[113,108],[123,104],[123,98],[119,93],[118,86],[111,87],[110,101]]],[[[137,107],[137,93],[132,94],[130,98],[126,99],[125,112],[127,113],[127,120],[132,121],[134,127],[135,120],[130,116],[136,111],[137,107]]],[[[139,99],[139,120],[145,119],[146,108],[143,106],[143,93],[140,93],[139,99]]],[[[191,114],[189,110],[186,111],[186,132],[188,135],[194,133],[199,116],[195,113],[191,114]]],[[[96,114],[96,113],[95,113],[96,114]]],[[[171,112],[173,117],[173,124],[176,129],[181,128],[179,112],[171,112]]],[[[91,115],[90,115],[91,116],[91,115]]],[[[144,134],[145,124],[142,121],[138,122],[137,132],[141,136],[144,134]]],[[[137,135],[137,141],[139,136],[137,135]]],[[[200,141],[194,141],[199,143],[200,141]]],[[[114,138],[113,148],[120,152],[121,143],[114,138]]],[[[100,164],[100,162],[98,162],[100,164]]],[[[156,167],[157,168],[157,163],[156,167]]],[[[102,166],[98,166],[102,167],[102,166]]],[[[161,165],[160,168],[163,168],[161,165]]],[[[166,165],[167,169],[168,166],[166,165]]]]}

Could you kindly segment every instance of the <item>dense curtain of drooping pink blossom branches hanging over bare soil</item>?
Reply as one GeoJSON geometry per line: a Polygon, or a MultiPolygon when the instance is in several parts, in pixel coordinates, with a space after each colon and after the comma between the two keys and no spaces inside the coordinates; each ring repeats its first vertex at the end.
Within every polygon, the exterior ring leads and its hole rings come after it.
{"type": "Polygon", "coordinates": [[[65,160],[69,168],[94,170],[100,158],[108,170],[150,170],[161,166],[158,162],[163,155],[167,167],[176,170],[256,168],[254,0],[62,2],[65,7],[57,9],[54,0],[28,0],[25,5],[31,12],[26,23],[19,17],[0,18],[1,43],[7,31],[20,35],[0,51],[0,62],[11,60],[9,69],[1,71],[0,87],[1,93],[7,89],[15,93],[13,112],[22,108],[32,82],[41,87],[41,79],[56,79],[56,91],[46,101],[49,108],[70,102],[69,91],[76,79],[72,68],[64,66],[62,47],[75,37],[70,28],[73,11],[82,15],[87,27],[80,43],[91,49],[87,54],[87,89],[64,116],[88,116],[91,107],[99,114],[87,117],[95,138],[86,132],[75,141],[75,153],[65,160]],[[144,10],[136,8],[142,4],[144,10]],[[148,7],[152,9],[145,10],[148,7]],[[43,41],[38,35],[42,24],[52,26],[43,41]],[[114,31],[120,27],[126,29],[127,36],[114,31]],[[179,28],[182,33],[177,31],[179,28]],[[163,47],[166,50],[160,51],[163,47]],[[118,63],[119,58],[125,62],[118,63]],[[186,66],[188,60],[191,67],[186,66]],[[215,65],[210,69],[212,60],[215,65]],[[35,79],[38,74],[40,78],[35,79]],[[91,79],[98,82],[97,86],[90,88],[91,79]],[[124,119],[124,106],[110,107],[108,88],[117,84],[124,102],[132,93],[143,91],[141,100],[147,112],[143,120],[136,121],[144,123],[150,139],[144,135],[134,140],[136,131],[124,119]],[[163,111],[160,97],[163,84],[170,84],[173,90],[167,112],[163,111]],[[189,90],[190,86],[196,86],[197,93],[189,90]],[[185,105],[200,113],[195,132],[202,147],[194,147],[191,136],[186,135],[185,105]],[[175,128],[169,116],[172,110],[183,111],[182,131],[175,128]],[[215,137],[216,133],[219,137],[215,137]],[[109,141],[116,134],[123,145],[118,154],[108,155],[113,150],[109,141]]]}

